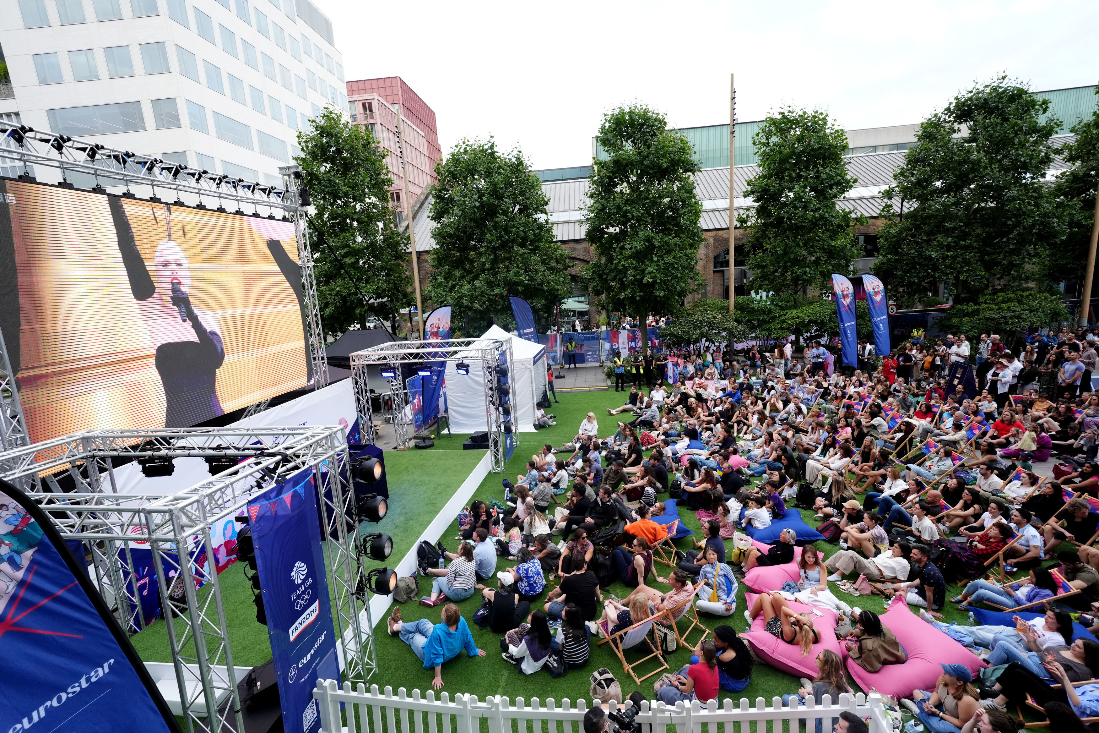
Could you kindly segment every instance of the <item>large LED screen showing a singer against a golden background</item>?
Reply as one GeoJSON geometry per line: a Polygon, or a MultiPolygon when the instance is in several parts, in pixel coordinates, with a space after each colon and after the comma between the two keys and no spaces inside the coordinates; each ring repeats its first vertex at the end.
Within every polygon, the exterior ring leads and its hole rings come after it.
{"type": "Polygon", "coordinates": [[[309,377],[293,225],[0,179],[0,329],[34,441],[186,427],[309,377]]]}

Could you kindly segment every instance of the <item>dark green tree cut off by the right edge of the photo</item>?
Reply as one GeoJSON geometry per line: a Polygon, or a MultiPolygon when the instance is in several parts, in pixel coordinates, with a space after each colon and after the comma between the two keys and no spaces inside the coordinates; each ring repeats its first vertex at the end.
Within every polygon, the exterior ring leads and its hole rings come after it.
{"type": "MultiPolygon", "coordinates": [[[[1099,97],[1099,86],[1096,96],[1099,97]]],[[[1058,152],[1073,167],[1054,184],[1054,191],[1065,206],[1065,240],[1061,246],[1051,247],[1040,263],[1040,270],[1053,282],[1084,280],[1099,186],[1099,100],[1090,118],[1073,125],[1073,134],[1076,140],[1058,152]]]]}

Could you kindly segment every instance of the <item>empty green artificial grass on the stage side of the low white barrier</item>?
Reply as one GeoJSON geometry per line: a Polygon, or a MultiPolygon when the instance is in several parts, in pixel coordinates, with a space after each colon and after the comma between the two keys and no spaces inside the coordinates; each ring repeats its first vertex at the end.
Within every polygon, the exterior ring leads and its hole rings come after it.
{"type": "MultiPolygon", "coordinates": [[[[458,490],[482,455],[479,451],[386,452],[389,511],[380,523],[364,526],[370,532],[384,532],[392,538],[391,562],[404,557],[412,548],[424,527],[458,490]]],[[[386,565],[386,562],[367,559],[365,563],[367,569],[381,565],[386,565]]],[[[225,609],[233,664],[254,667],[271,657],[271,648],[267,626],[256,621],[252,586],[244,578],[243,567],[240,563],[233,564],[218,576],[218,584],[225,609]]],[[[331,579],[329,588],[334,597],[331,579]]],[[[198,593],[202,599],[207,589],[200,588],[198,593]]],[[[176,619],[175,624],[178,637],[184,633],[186,624],[181,619],[176,619]]],[[[171,662],[168,629],[163,619],[133,636],[131,642],[145,662],[171,662]]],[[[193,645],[188,645],[187,649],[186,654],[193,656],[193,645]]]]}

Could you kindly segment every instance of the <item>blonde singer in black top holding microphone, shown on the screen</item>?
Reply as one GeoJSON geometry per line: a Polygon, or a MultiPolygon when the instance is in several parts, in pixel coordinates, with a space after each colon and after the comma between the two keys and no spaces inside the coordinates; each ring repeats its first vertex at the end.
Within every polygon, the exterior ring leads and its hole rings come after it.
{"type": "Polygon", "coordinates": [[[224,414],[217,393],[217,371],[225,360],[221,324],[191,302],[190,267],[182,248],[170,238],[167,213],[168,238],[156,246],[151,274],[121,200],[110,197],[109,203],[130,290],[156,349],[166,402],[164,426],[188,427],[224,414]]]}

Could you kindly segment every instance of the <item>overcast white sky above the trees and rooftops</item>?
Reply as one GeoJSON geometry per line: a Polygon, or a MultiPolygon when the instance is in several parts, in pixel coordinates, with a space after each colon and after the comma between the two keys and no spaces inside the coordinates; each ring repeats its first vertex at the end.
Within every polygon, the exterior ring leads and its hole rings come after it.
{"type": "Polygon", "coordinates": [[[1099,2],[363,2],[318,0],[347,79],[401,76],[462,137],[535,168],[587,165],[602,113],[641,101],[671,126],[782,104],[845,129],[919,122],[975,80],[1099,81],[1099,2]]]}

